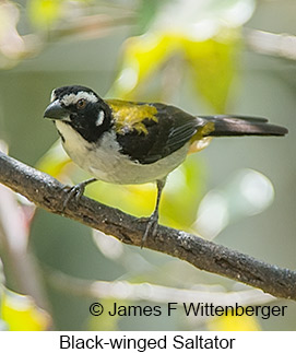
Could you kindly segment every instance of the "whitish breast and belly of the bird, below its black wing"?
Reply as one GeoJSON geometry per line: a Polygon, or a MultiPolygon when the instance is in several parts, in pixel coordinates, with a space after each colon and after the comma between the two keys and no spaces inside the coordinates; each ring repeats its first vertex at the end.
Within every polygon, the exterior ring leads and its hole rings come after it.
{"type": "Polygon", "coordinates": [[[115,132],[105,132],[97,143],[88,143],[69,125],[56,121],[71,160],[99,180],[113,184],[144,184],[166,177],[186,158],[189,143],[165,158],[140,164],[119,152],[115,132]]]}

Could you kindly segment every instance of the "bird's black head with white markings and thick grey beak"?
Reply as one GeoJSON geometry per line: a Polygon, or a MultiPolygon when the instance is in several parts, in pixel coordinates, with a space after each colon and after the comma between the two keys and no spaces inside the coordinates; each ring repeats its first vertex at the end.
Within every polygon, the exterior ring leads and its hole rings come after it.
{"type": "Polygon", "coordinates": [[[88,142],[96,142],[113,123],[109,106],[93,90],[80,85],[54,90],[44,117],[71,126],[88,142]]]}

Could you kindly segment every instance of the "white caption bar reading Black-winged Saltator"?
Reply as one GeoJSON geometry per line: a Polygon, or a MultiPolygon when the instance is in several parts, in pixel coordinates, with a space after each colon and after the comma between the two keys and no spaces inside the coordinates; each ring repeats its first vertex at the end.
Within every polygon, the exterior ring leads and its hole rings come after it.
{"type": "Polygon", "coordinates": [[[1,352],[291,352],[295,332],[0,332],[1,352]]]}

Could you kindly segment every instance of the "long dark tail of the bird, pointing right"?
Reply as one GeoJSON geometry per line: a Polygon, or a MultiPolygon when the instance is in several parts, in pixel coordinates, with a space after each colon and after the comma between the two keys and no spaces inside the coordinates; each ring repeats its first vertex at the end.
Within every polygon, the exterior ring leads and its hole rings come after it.
{"type": "Polygon", "coordinates": [[[212,126],[203,134],[209,137],[227,136],[284,136],[288,130],[284,127],[272,125],[265,118],[240,117],[232,115],[199,116],[212,126]],[[212,122],[212,123],[211,123],[212,122]]]}

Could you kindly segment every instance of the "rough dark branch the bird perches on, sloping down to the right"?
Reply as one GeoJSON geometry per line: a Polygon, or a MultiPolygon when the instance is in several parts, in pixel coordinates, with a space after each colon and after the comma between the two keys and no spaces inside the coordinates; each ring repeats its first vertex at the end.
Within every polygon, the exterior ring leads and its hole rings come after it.
{"type": "MultiPolygon", "coordinates": [[[[64,186],[51,176],[0,152],[0,183],[20,192],[36,205],[113,235],[121,242],[141,246],[145,223],[86,197],[70,200],[64,186]]],[[[194,267],[261,289],[277,297],[296,299],[296,272],[264,263],[236,250],[196,235],[158,226],[146,248],[186,260],[194,267]]]]}

